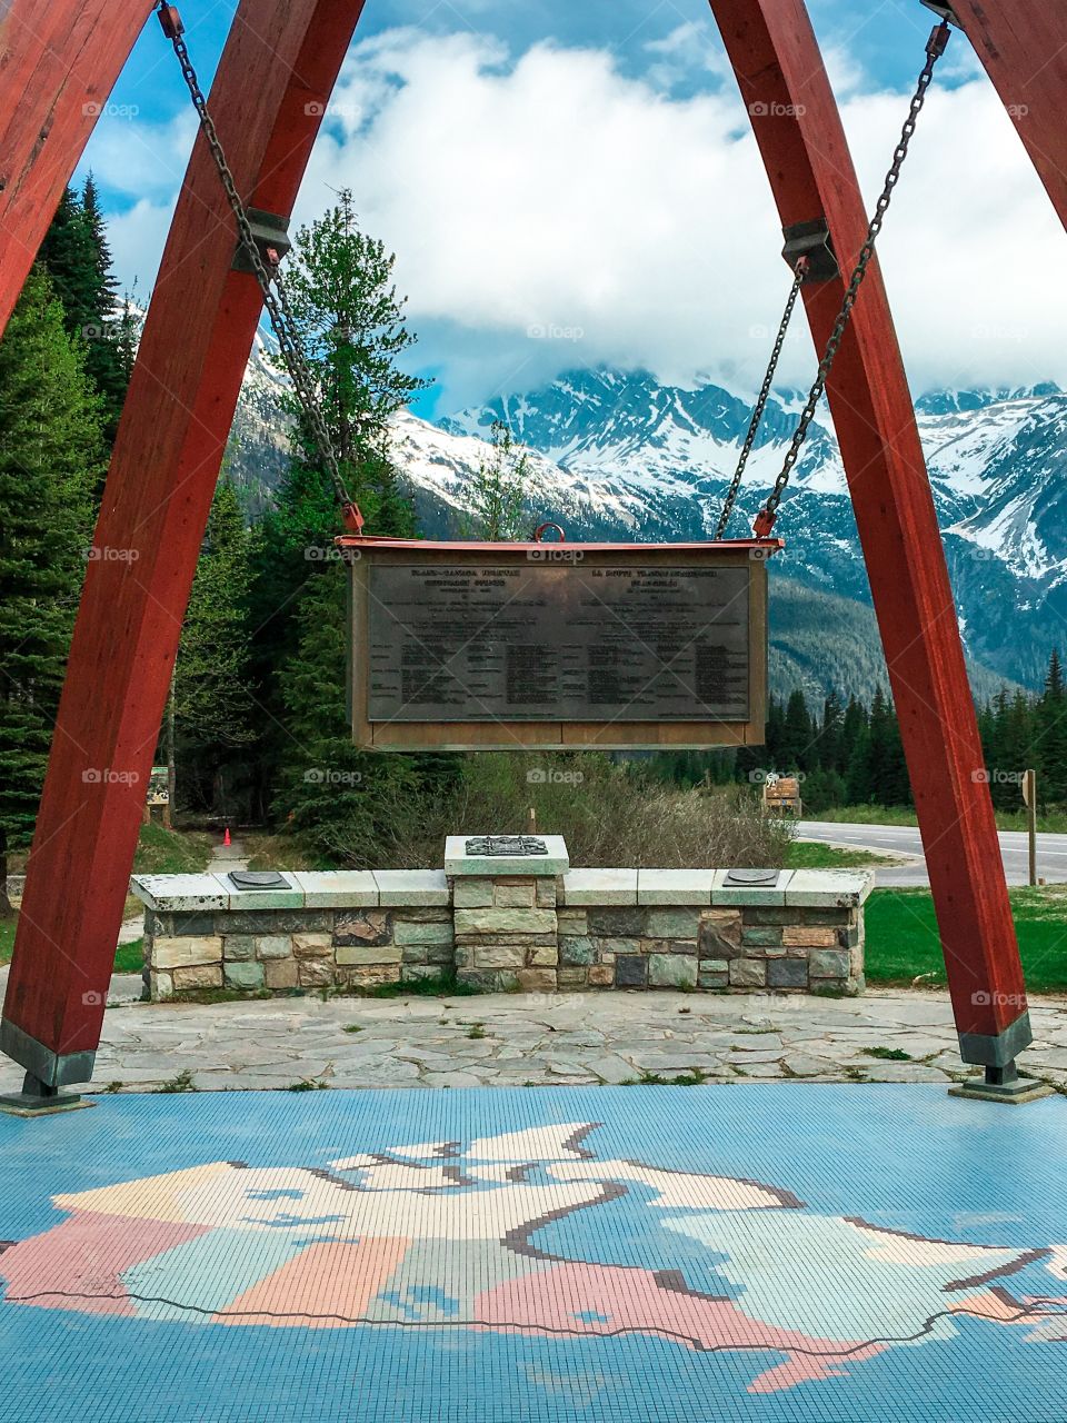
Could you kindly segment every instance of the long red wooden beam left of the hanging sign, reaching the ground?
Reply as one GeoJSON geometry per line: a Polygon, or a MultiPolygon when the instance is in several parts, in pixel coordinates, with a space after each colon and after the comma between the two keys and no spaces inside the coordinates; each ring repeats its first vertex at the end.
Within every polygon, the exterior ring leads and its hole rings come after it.
{"type": "MultiPolygon", "coordinates": [[[[361,9],[242,0],[211,105],[246,203],[292,212],[361,9]]],[[[235,249],[201,138],[104,491],[0,1025],[0,1047],[50,1089],[91,1074],[178,635],[262,312],[235,249]]]]}

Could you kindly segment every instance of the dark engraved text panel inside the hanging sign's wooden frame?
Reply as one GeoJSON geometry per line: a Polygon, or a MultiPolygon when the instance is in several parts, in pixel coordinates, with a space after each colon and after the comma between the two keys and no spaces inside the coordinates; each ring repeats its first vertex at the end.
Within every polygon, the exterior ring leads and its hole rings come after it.
{"type": "Polygon", "coordinates": [[[747,721],[747,566],[370,568],[368,721],[747,721]]]}

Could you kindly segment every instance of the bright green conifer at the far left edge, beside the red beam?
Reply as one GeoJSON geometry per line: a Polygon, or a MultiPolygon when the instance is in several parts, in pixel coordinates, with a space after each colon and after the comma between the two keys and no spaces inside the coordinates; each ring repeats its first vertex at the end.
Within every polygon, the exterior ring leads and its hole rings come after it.
{"type": "Polygon", "coordinates": [[[0,908],[37,815],[102,462],[81,349],[34,266],[0,342],[0,908]]]}

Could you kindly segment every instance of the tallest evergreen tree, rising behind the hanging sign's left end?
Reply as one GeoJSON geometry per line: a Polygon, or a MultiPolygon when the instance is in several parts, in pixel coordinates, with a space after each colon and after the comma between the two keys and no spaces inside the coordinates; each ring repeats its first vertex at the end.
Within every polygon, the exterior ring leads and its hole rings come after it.
{"type": "MultiPolygon", "coordinates": [[[[397,366],[414,337],[393,285],[394,259],[359,229],[351,196],[341,194],[299,232],[290,260],[290,306],[347,488],[370,532],[410,535],[414,514],[390,458],[390,420],[424,381],[397,366]]],[[[351,744],[337,498],[302,413],[290,408],[296,448],[266,519],[258,581],[270,803],[331,861],[360,864],[400,834],[397,817],[410,817],[415,788],[441,767],[351,744]]]]}

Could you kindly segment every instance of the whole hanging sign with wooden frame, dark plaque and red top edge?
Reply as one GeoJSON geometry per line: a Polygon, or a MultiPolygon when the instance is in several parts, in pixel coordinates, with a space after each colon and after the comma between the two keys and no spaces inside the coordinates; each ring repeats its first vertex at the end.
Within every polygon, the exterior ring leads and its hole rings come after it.
{"type": "Polygon", "coordinates": [[[351,568],[357,746],[763,741],[777,541],[339,542],[351,568]]]}

